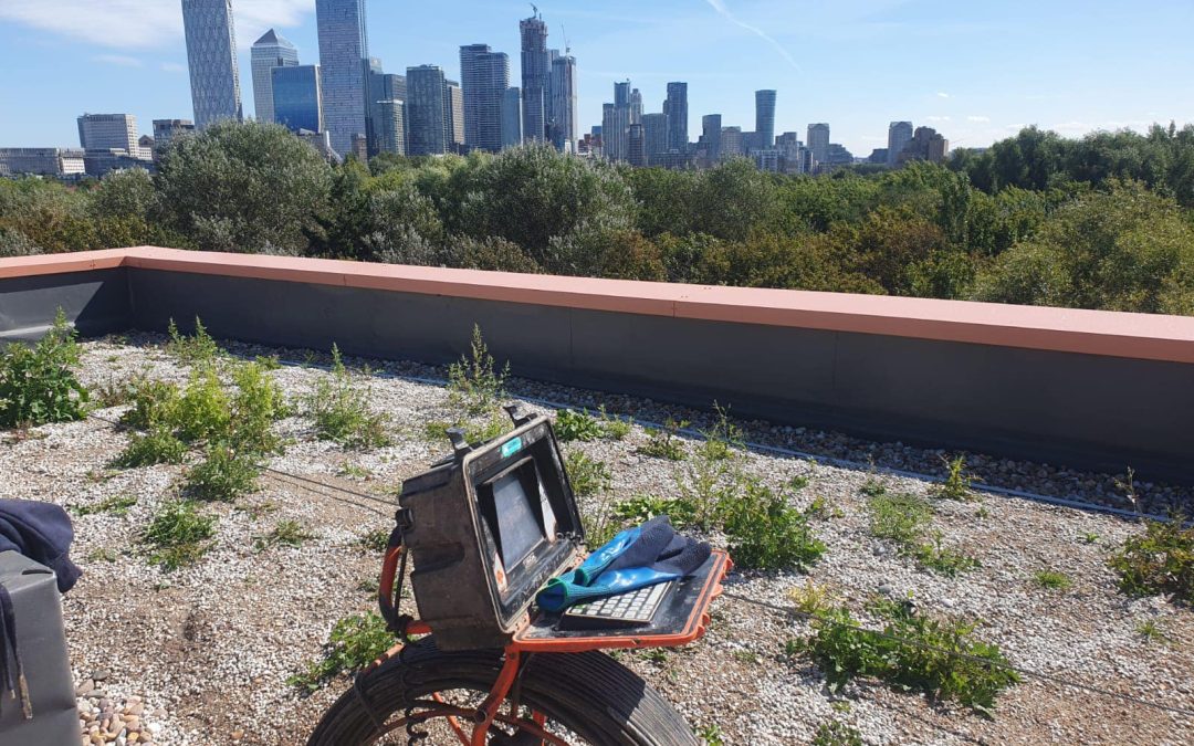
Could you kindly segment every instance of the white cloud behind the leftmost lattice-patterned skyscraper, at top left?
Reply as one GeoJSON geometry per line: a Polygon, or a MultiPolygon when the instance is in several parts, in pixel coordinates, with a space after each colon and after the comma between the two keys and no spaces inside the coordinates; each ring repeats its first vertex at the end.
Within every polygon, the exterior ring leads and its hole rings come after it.
{"type": "MultiPolygon", "coordinates": [[[[296,26],[314,7],[315,0],[239,0],[236,45],[248,48],[271,26],[296,26]]],[[[113,49],[161,48],[183,37],[178,0],[0,0],[0,19],[113,49]]]]}

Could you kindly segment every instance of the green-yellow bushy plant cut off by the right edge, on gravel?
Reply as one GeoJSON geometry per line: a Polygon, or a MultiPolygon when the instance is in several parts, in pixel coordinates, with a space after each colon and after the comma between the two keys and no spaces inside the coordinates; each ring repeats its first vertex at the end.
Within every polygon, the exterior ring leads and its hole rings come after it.
{"type": "Polygon", "coordinates": [[[1146,522],[1144,534],[1128,537],[1109,562],[1125,593],[1169,593],[1177,602],[1194,602],[1194,526],[1186,526],[1181,513],[1169,523],[1146,522]]]}

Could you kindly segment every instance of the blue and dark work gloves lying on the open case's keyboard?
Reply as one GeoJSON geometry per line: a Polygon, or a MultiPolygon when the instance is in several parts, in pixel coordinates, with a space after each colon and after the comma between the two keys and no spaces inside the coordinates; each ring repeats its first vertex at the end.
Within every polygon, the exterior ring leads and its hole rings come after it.
{"type": "Polygon", "coordinates": [[[581,602],[676,580],[709,559],[709,544],[676,534],[667,516],[626,529],[593,551],[580,567],[552,578],[536,602],[562,611],[581,602]]]}

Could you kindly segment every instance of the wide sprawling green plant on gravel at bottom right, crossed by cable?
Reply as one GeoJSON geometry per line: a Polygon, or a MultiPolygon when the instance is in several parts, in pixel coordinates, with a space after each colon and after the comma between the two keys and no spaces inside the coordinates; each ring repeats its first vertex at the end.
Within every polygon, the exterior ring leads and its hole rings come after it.
{"type": "Polygon", "coordinates": [[[881,630],[861,627],[844,606],[813,619],[802,647],[831,691],[853,678],[873,677],[990,716],[996,695],[1021,680],[998,646],[974,639],[974,623],[917,615],[893,602],[876,603],[872,612],[881,630]]]}

